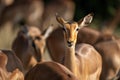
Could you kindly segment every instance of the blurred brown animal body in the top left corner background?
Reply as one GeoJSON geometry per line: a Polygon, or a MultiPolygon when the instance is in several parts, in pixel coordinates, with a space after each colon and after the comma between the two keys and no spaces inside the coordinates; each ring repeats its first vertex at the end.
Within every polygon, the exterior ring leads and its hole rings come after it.
{"type": "Polygon", "coordinates": [[[31,26],[39,26],[43,14],[42,0],[15,0],[13,4],[3,9],[0,15],[0,25],[19,24],[21,21],[31,26]]]}

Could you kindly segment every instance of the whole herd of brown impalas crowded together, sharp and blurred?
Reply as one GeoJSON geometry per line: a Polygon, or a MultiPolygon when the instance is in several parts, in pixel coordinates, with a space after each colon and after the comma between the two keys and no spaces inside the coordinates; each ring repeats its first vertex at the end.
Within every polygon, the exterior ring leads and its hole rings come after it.
{"type": "Polygon", "coordinates": [[[0,13],[0,25],[27,21],[11,50],[0,50],[0,80],[120,80],[120,38],[86,27],[93,13],[75,22],[72,0],[56,0],[44,12],[42,0],[26,1],[0,13]]]}

